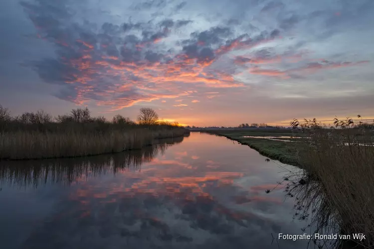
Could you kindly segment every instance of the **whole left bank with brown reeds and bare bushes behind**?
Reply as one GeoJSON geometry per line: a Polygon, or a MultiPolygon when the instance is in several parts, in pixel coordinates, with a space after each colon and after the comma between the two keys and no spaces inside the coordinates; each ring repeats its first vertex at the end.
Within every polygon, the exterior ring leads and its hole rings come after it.
{"type": "MultiPolygon", "coordinates": [[[[1,106],[0,106],[1,108],[1,106]]],[[[42,111],[11,117],[0,110],[0,159],[77,157],[140,149],[157,138],[183,136],[189,131],[178,124],[138,117],[138,124],[115,116],[112,121],[91,117],[88,109],[73,109],[55,119],[42,111]],[[2,115],[1,115],[2,114],[2,115]]],[[[156,117],[157,116],[157,117],[156,117]]]]}

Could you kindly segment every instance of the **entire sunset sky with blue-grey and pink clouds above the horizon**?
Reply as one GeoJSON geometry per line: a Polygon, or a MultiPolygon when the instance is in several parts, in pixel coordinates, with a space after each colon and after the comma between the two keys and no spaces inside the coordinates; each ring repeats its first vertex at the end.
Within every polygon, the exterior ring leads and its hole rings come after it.
{"type": "Polygon", "coordinates": [[[1,0],[0,22],[13,115],[374,118],[373,0],[1,0]]]}

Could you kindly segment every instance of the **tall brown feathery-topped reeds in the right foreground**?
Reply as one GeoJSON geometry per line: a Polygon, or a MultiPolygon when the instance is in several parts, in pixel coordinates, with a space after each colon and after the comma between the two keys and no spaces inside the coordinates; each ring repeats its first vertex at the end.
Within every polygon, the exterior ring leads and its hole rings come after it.
{"type": "MultiPolygon", "coordinates": [[[[293,124],[296,123],[295,120],[293,124]]],[[[304,202],[315,206],[323,200],[319,223],[334,221],[341,234],[363,233],[366,240],[355,241],[364,248],[374,246],[374,133],[372,124],[355,124],[352,119],[335,120],[326,129],[316,120],[303,124],[308,143],[299,143],[300,165],[314,182],[304,202]],[[313,197],[311,197],[313,196],[313,197]],[[309,199],[308,199],[309,198],[309,199]],[[309,201],[308,201],[309,200],[309,201]],[[315,199],[317,200],[317,199],[315,199]],[[308,203],[309,202],[309,203],[308,203]]],[[[299,125],[294,125],[299,126],[299,125]]]]}

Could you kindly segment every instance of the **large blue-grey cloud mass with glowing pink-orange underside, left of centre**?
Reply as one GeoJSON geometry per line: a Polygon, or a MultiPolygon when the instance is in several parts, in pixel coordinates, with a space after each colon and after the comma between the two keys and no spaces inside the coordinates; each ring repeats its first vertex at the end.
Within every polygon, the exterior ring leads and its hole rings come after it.
{"type": "MultiPolygon", "coordinates": [[[[162,1],[141,4],[148,8],[162,1]]],[[[105,22],[99,31],[93,25],[70,20],[67,6],[53,8],[40,0],[23,3],[25,11],[38,28],[42,39],[56,46],[56,59],[42,59],[28,63],[47,83],[65,88],[55,94],[58,98],[83,104],[94,102],[99,106],[111,106],[113,110],[149,102],[160,98],[176,98],[192,93],[193,84],[217,87],[238,87],[240,83],[227,75],[204,73],[215,59],[210,47],[232,32],[227,27],[213,27],[202,32],[192,32],[196,42],[186,45],[175,56],[157,47],[171,33],[171,28],[191,21],[164,19],[156,29],[147,28],[150,23],[125,22],[116,25],[105,22]],[[157,29],[159,27],[159,29],[157,29]],[[141,35],[129,33],[142,30],[141,35]],[[223,77],[222,77],[223,76],[223,77]],[[123,82],[124,84],[119,84],[123,82]],[[155,84],[149,84],[149,83],[155,84]],[[177,84],[191,84],[180,91],[177,84]],[[73,86],[73,87],[72,87],[73,86]],[[68,90],[68,91],[67,91],[68,90]]]]}

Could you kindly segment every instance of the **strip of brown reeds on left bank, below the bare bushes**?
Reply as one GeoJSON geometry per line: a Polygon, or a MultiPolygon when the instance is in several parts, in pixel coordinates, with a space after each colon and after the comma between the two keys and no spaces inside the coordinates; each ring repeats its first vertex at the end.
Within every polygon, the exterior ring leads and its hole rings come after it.
{"type": "Polygon", "coordinates": [[[181,127],[85,132],[9,131],[0,133],[0,159],[75,157],[140,149],[155,138],[183,136],[181,127]]]}

